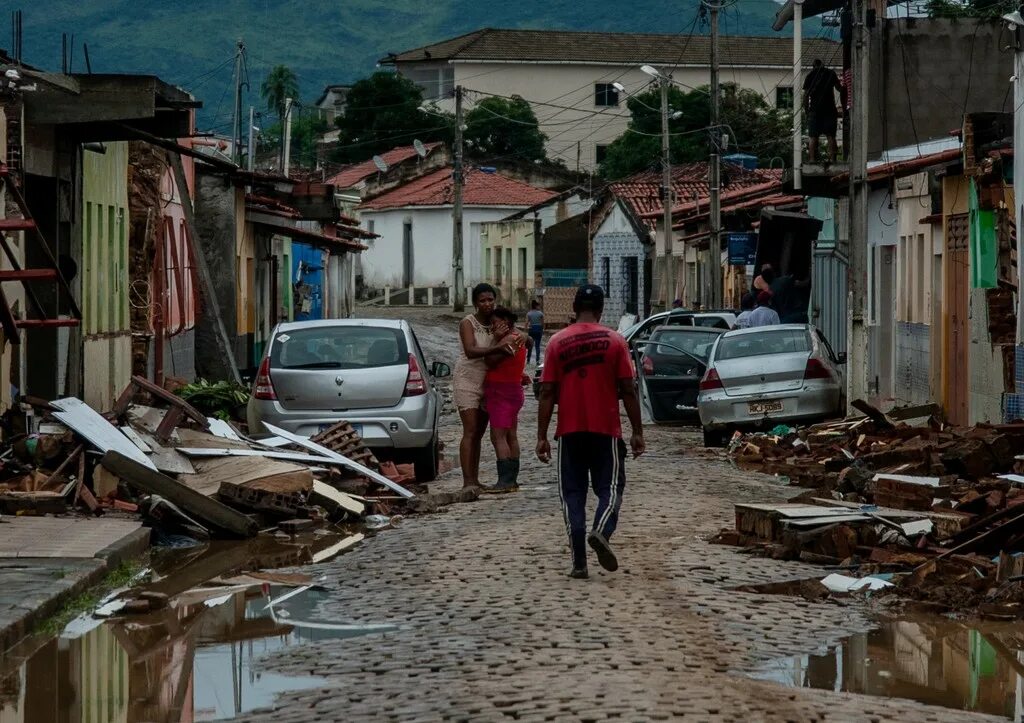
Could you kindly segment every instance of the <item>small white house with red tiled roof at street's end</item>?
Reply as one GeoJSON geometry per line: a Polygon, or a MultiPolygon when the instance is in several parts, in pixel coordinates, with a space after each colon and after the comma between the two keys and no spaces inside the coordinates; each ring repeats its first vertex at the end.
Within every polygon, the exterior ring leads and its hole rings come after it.
{"type": "MultiPolygon", "coordinates": [[[[463,269],[467,286],[480,281],[480,225],[558,196],[471,168],[463,188],[463,269]]],[[[358,208],[362,227],[380,238],[362,253],[369,289],[452,286],[452,169],[441,168],[377,196],[358,208]]]]}

